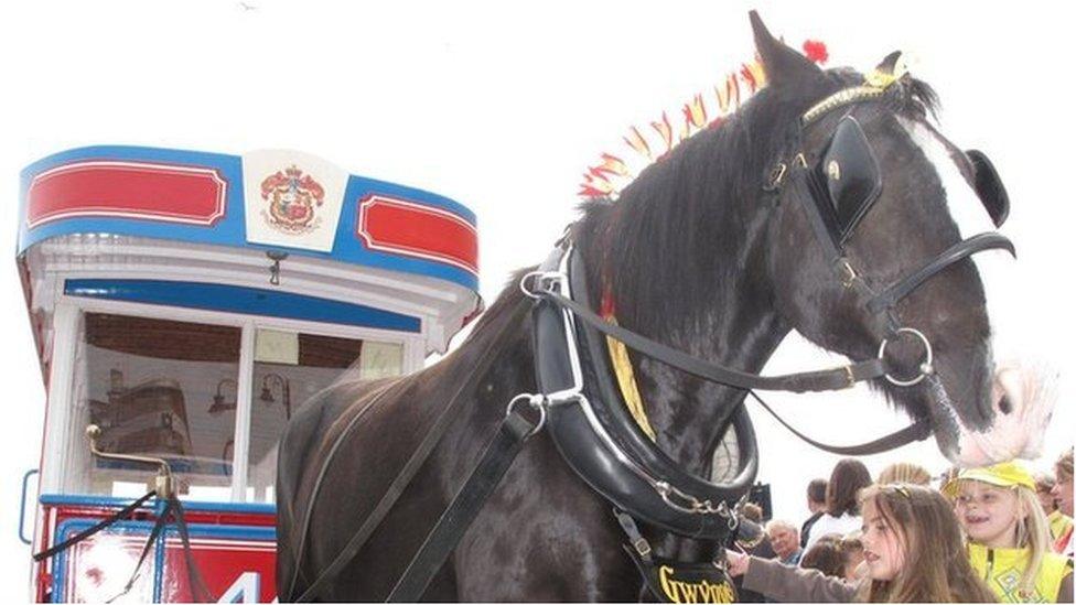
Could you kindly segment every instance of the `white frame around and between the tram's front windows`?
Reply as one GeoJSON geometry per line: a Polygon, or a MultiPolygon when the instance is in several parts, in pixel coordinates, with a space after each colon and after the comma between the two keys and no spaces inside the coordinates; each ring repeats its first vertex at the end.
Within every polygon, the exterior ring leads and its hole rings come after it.
{"type": "MultiPolygon", "coordinates": [[[[64,280],[58,280],[58,282],[63,283],[64,280]]],[[[232,491],[228,500],[230,503],[249,501],[247,498],[247,473],[250,457],[250,420],[254,402],[255,337],[258,329],[399,344],[404,347],[402,369],[405,374],[409,374],[422,368],[426,358],[427,331],[430,325],[428,317],[419,317],[420,331],[410,333],[60,294],[53,315],[55,339],[50,372],[45,453],[43,455],[43,458],[51,460],[42,461],[42,494],[63,493],[62,486],[69,472],[63,456],[54,455],[52,452],[63,452],[66,447],[87,446],[84,443],[68,442],[68,435],[82,434],[82,431],[71,432],[71,422],[73,422],[72,412],[74,410],[72,397],[74,396],[75,353],[82,338],[79,325],[86,313],[109,313],[240,328],[239,376],[236,380],[235,453],[232,460],[232,491]]]]}

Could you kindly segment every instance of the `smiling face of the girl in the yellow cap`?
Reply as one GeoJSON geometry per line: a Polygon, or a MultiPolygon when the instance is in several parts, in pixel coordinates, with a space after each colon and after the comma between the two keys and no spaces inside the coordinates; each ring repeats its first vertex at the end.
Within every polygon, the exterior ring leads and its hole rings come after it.
{"type": "Polygon", "coordinates": [[[956,514],[968,538],[994,548],[1016,545],[1019,517],[1016,493],[982,482],[960,482],[956,514]]]}

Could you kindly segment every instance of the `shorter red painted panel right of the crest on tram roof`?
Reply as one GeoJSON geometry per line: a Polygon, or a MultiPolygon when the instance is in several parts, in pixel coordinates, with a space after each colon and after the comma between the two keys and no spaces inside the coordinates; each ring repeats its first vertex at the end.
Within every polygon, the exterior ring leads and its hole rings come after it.
{"type": "Polygon", "coordinates": [[[464,218],[442,208],[368,195],[358,203],[358,237],[372,250],[438,260],[478,272],[478,236],[464,218]]]}

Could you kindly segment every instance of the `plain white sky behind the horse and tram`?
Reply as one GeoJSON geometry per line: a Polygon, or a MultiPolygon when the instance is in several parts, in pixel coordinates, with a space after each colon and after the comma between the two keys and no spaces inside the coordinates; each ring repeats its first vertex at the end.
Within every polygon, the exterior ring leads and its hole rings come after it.
{"type": "MultiPolygon", "coordinates": [[[[18,171],[88,144],[240,154],[292,148],[345,170],[429,188],[478,216],[482,292],[537,262],[574,217],[580,174],[626,129],[676,110],[753,55],[746,12],[795,44],[828,43],[830,66],[869,68],[892,50],[942,97],[942,129],[990,153],[1013,201],[1005,233],[1020,279],[1013,332],[1062,372],[1044,466],[1073,443],[1068,284],[1073,174],[1067,3],[24,2],[4,11],[0,249],[14,250],[18,171]],[[964,7],[964,8],[961,8],[964,7]]],[[[670,114],[671,115],[671,114],[670,114]]],[[[0,593],[25,598],[29,548],[14,538],[19,480],[41,451],[44,391],[14,263],[0,271],[3,385],[0,593]]],[[[833,363],[789,338],[768,372],[833,363]]],[[[905,422],[865,391],[772,396],[811,436],[874,439],[905,422]]],[[[837,457],[752,407],[760,480],[779,517],[837,457]]],[[[865,458],[940,469],[933,442],[865,458]]]]}

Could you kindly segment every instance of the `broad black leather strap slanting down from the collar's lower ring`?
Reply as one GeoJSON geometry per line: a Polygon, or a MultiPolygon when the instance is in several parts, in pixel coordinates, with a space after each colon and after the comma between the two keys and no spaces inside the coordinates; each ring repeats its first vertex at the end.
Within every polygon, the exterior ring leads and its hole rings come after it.
{"type": "Polygon", "coordinates": [[[430,581],[444,565],[449,554],[455,550],[460,539],[482,510],[486,499],[501,484],[502,477],[534,429],[535,425],[518,412],[514,411],[504,419],[478,465],[426,537],[422,547],[386,599],[387,603],[418,603],[430,581]]]}

